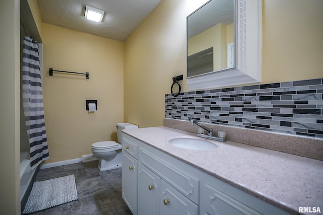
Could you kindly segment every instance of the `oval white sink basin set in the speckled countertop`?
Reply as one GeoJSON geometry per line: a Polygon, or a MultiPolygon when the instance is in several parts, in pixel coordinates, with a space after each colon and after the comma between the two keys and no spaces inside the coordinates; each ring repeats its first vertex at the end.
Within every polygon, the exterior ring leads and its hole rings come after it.
{"type": "Polygon", "coordinates": [[[217,149],[218,146],[212,144],[212,142],[203,140],[203,139],[195,139],[195,138],[187,138],[187,137],[176,137],[169,140],[169,143],[172,146],[180,147],[184,149],[190,150],[213,150],[217,149]]]}

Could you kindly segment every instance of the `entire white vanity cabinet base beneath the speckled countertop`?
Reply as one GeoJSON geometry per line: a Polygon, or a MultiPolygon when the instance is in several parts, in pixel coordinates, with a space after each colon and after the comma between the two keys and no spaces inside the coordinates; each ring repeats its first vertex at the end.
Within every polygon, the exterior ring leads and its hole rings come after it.
{"type": "Polygon", "coordinates": [[[123,149],[122,196],[133,214],[289,214],[124,134],[129,143],[137,151],[123,149]]]}

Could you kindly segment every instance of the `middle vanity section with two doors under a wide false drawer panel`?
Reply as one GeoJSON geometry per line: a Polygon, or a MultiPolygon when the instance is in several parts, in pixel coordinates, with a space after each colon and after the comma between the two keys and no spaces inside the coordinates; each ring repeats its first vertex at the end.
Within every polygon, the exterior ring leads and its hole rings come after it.
{"type": "Polygon", "coordinates": [[[198,180],[155,156],[155,149],[139,148],[138,214],[191,214],[198,215],[198,180]]]}

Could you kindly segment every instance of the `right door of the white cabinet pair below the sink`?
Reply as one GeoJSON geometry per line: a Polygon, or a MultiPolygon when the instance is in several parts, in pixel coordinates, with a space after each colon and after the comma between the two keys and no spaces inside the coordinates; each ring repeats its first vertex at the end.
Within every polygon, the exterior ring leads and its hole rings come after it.
{"type": "Polygon", "coordinates": [[[198,215],[198,206],[174,189],[171,185],[160,179],[160,215],[189,214],[198,215]]]}

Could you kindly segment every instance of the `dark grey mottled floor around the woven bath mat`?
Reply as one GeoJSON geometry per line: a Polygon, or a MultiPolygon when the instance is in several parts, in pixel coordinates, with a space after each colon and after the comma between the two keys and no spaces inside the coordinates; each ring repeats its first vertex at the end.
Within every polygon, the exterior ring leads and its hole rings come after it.
{"type": "Polygon", "coordinates": [[[35,181],[74,174],[78,200],[32,214],[132,214],[121,197],[121,168],[100,172],[98,161],[40,169],[35,181]]]}

